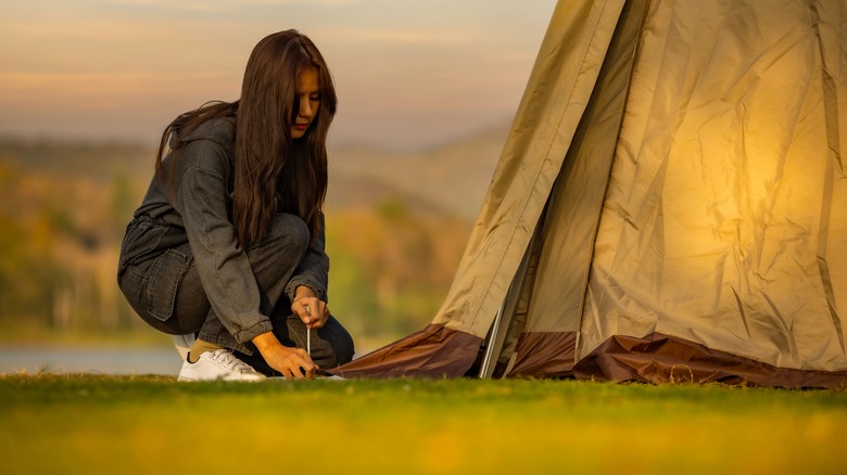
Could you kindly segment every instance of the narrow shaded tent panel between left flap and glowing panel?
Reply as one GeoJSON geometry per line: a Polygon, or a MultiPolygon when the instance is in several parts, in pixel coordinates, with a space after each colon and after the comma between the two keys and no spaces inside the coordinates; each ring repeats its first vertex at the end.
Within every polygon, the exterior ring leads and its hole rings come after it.
{"type": "MultiPolygon", "coordinates": [[[[570,144],[545,211],[538,264],[523,279],[527,316],[511,375],[564,375],[574,345],[594,254],[594,240],[627,104],[645,1],[623,9],[589,105],[570,144]],[[567,360],[566,358],[569,358],[567,360]]],[[[505,345],[500,361],[510,358],[505,345]]]]}

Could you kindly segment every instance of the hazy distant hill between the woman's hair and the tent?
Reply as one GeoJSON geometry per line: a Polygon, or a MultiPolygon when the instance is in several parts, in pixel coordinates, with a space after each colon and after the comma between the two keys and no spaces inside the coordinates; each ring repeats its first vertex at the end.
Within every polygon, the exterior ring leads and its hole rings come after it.
{"type": "Polygon", "coordinates": [[[508,125],[501,125],[414,153],[362,145],[333,147],[329,157],[329,204],[344,206],[407,195],[472,220],[482,205],[507,134],[508,125]]]}

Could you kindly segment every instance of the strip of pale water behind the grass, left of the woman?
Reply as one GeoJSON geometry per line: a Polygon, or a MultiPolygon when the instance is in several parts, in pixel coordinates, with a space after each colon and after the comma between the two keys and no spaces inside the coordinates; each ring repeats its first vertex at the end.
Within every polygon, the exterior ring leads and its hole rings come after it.
{"type": "Polygon", "coordinates": [[[179,374],[172,348],[55,348],[0,346],[0,373],[179,374]]]}

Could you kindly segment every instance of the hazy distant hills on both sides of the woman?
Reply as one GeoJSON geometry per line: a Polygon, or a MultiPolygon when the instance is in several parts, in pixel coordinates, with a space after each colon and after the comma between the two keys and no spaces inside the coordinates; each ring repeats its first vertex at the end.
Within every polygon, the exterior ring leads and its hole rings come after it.
{"type": "MultiPolygon", "coordinates": [[[[419,152],[368,145],[330,149],[328,210],[401,203],[416,213],[477,217],[508,132],[506,125],[419,152]]],[[[155,144],[0,137],[0,165],[63,181],[110,183],[124,176],[143,191],[155,144]]],[[[140,198],[140,196],[139,196],[140,198]]]]}

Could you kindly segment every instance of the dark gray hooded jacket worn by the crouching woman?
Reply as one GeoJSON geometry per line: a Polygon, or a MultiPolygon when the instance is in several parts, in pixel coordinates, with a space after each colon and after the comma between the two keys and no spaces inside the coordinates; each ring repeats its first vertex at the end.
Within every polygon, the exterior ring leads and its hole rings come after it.
{"type": "MultiPolygon", "coordinates": [[[[212,308],[243,344],[270,331],[271,324],[260,311],[260,290],[231,221],[235,120],[212,119],[180,140],[187,143],[179,151],[173,190],[169,157],[165,157],[162,177],[152,180],[127,227],[118,280],[127,268],[143,266],[168,248],[189,243],[212,308]],[[134,227],[139,221],[150,226],[134,227]]],[[[325,243],[321,222],[320,235],[286,286],[290,299],[298,286],[305,285],[327,300],[329,257],[325,243]]]]}

